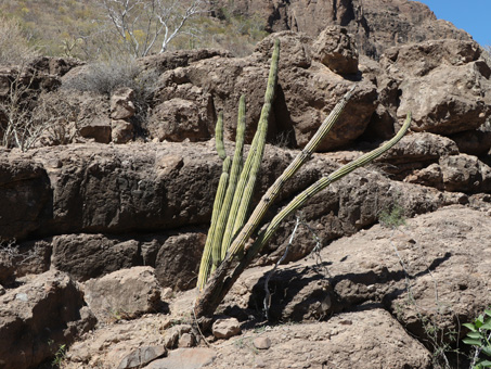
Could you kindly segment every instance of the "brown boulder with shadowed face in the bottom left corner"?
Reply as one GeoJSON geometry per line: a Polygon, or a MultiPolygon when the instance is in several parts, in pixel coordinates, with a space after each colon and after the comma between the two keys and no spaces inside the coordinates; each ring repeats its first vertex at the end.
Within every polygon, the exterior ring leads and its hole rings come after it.
{"type": "Polygon", "coordinates": [[[36,368],[94,325],[68,276],[55,270],[36,276],[0,297],[1,364],[36,368]]]}

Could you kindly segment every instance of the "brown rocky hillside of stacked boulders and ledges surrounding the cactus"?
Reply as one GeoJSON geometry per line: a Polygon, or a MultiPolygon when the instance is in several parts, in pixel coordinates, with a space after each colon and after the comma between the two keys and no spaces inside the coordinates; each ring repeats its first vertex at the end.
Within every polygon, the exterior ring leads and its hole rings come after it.
{"type": "Polygon", "coordinates": [[[462,325],[491,305],[483,51],[413,1],[234,7],[261,10],[277,30],[249,56],[204,49],[111,68],[55,58],[0,67],[0,368],[469,367],[462,325]],[[309,22],[312,12],[327,24],[309,22]],[[287,219],[198,331],[194,288],[222,166],[215,123],[223,111],[231,152],[245,93],[250,142],[276,38],[255,203],[356,90],[266,221],[392,137],[408,112],[413,124],[309,200],[292,242],[287,219]],[[8,140],[20,111],[43,128],[25,150],[8,140]],[[267,321],[266,276],[284,255],[267,321]]]}

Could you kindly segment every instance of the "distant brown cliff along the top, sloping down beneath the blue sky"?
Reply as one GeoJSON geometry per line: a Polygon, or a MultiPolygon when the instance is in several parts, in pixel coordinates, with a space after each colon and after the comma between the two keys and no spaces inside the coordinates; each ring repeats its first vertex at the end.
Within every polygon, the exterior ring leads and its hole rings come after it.
{"type": "Polygon", "coordinates": [[[246,17],[260,17],[269,31],[290,29],[316,37],[326,26],[346,27],[353,34],[360,53],[373,59],[401,43],[471,39],[450,22],[437,20],[427,5],[408,0],[240,0],[233,5],[220,0],[216,9],[220,7],[246,17]]]}

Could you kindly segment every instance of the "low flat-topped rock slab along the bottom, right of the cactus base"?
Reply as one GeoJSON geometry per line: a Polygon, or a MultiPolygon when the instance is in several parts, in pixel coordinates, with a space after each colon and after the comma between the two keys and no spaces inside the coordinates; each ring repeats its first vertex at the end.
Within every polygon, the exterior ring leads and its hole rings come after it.
{"type": "Polygon", "coordinates": [[[274,326],[268,338],[272,343],[268,351],[257,352],[250,343],[218,347],[212,367],[348,369],[363,362],[365,368],[431,368],[429,352],[380,308],[274,326]]]}

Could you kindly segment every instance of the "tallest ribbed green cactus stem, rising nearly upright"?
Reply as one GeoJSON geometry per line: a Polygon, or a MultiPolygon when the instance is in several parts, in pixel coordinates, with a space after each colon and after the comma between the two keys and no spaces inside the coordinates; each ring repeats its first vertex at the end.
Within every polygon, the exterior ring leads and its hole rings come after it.
{"type": "Polygon", "coordinates": [[[223,234],[222,250],[227,253],[232,238],[244,225],[245,217],[253,195],[257,173],[259,170],[262,154],[264,152],[266,136],[268,133],[268,122],[274,99],[274,90],[277,81],[277,64],[280,59],[280,40],[274,41],[274,50],[271,59],[271,67],[268,76],[268,86],[264,93],[264,104],[258,123],[258,129],[254,136],[253,143],[241,173],[237,188],[232,202],[225,233],[223,234]]]}

